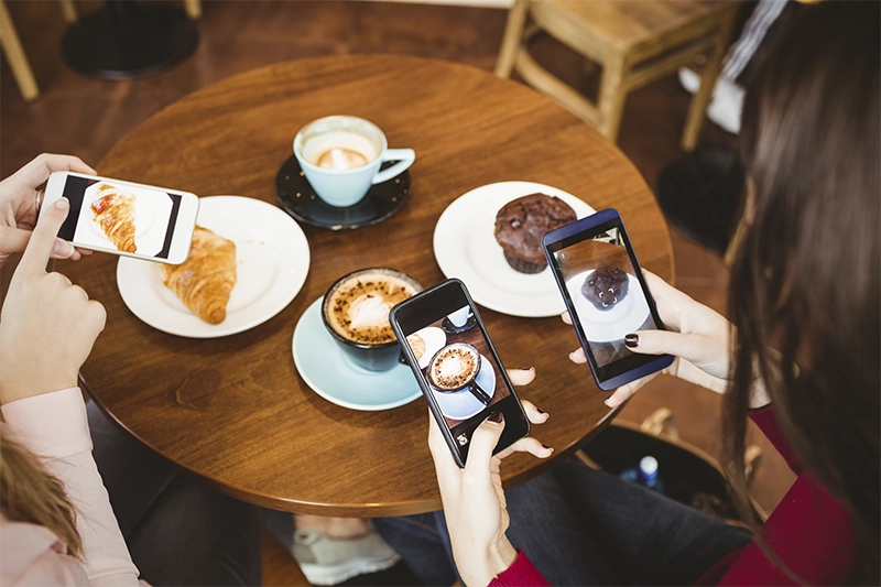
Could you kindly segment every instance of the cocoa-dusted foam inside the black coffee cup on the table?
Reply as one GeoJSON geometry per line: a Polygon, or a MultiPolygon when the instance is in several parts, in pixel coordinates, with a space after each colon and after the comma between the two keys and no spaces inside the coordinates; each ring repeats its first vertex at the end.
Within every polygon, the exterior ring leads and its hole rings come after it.
{"type": "Polygon", "coordinates": [[[392,343],[395,336],[389,324],[389,311],[415,293],[411,283],[394,275],[352,275],[330,292],[325,317],[334,331],[352,343],[392,343]]]}

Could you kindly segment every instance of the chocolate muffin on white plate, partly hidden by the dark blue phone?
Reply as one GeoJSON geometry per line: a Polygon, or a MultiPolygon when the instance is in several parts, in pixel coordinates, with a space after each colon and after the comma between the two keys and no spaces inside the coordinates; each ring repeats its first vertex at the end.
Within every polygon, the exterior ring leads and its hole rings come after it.
{"type": "Polygon", "coordinates": [[[496,240],[513,269],[540,273],[547,267],[542,237],[575,220],[575,210],[558,197],[530,194],[509,202],[496,215],[496,240]]]}

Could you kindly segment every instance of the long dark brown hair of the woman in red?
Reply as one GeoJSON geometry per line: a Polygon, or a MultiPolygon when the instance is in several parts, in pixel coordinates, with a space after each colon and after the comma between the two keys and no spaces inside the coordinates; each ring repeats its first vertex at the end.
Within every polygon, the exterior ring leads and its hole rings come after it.
{"type": "Polygon", "coordinates": [[[748,91],[741,127],[754,191],[729,291],[724,443],[735,497],[747,511],[733,464],[759,376],[798,457],[850,513],[851,579],[878,585],[881,2],[800,7],[748,91]]]}

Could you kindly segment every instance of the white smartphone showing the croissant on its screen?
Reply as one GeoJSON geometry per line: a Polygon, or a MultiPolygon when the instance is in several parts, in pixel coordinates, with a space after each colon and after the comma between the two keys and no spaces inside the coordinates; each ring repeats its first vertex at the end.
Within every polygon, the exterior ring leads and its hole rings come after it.
{"type": "Polygon", "coordinates": [[[58,238],[76,247],[173,265],[189,254],[195,194],[59,171],[48,176],[40,214],[62,197],[70,211],[58,238]]]}

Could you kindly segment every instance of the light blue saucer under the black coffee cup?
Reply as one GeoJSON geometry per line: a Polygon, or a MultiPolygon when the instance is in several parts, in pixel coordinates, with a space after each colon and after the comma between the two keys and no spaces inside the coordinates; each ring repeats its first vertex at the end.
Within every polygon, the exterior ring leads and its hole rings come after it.
{"type": "Polygon", "coordinates": [[[389,410],[422,398],[410,367],[368,371],[346,360],[322,322],[322,301],[316,300],[296,323],[292,350],[300,377],[328,402],[351,410],[389,410]]]}

